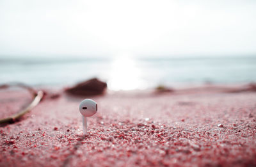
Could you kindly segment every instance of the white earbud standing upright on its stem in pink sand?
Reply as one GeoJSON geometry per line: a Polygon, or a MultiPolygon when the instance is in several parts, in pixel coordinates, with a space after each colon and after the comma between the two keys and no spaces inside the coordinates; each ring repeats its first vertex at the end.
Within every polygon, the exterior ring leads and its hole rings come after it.
{"type": "Polygon", "coordinates": [[[97,113],[97,102],[91,99],[84,99],[79,105],[79,111],[83,115],[83,132],[87,134],[87,119],[88,116],[93,116],[97,113]]]}

